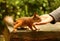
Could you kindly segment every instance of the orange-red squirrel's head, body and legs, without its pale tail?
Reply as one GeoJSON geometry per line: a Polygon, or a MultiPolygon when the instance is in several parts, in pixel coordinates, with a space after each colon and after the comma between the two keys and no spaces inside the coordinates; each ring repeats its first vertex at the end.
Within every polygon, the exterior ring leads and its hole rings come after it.
{"type": "Polygon", "coordinates": [[[37,30],[35,25],[33,25],[34,22],[40,22],[40,16],[34,13],[32,17],[21,17],[16,20],[14,23],[14,31],[17,30],[18,27],[25,27],[28,26],[31,30],[33,30],[32,26],[37,30]]]}

